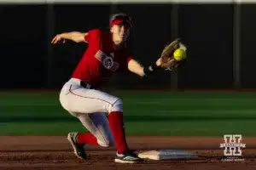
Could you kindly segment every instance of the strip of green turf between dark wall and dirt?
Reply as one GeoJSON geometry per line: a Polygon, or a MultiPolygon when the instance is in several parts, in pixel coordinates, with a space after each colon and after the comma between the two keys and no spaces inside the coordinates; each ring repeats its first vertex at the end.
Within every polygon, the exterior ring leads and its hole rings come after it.
{"type": "MultiPolygon", "coordinates": [[[[114,92],[124,100],[127,135],[255,135],[256,93],[114,92]]],[[[63,135],[84,127],[55,92],[0,95],[0,135],[63,135]]]]}

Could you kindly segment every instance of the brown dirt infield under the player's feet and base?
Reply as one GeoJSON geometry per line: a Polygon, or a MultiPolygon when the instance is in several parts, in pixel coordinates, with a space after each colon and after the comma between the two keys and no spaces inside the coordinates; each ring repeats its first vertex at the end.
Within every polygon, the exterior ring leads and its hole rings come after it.
{"type": "Polygon", "coordinates": [[[0,169],[253,169],[256,138],[242,138],[244,161],[221,161],[226,158],[219,144],[223,138],[213,137],[129,137],[132,149],[177,149],[197,153],[194,160],[144,161],[135,165],[113,162],[114,148],[87,146],[88,160],[79,160],[63,136],[2,136],[0,137],[0,169]]]}

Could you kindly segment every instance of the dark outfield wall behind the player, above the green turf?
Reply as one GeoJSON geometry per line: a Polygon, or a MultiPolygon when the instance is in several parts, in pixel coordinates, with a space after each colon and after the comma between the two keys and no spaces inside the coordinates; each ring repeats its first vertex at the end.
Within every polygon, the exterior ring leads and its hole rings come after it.
{"type": "Polygon", "coordinates": [[[168,42],[180,37],[188,62],[178,71],[140,78],[117,74],[109,84],[134,88],[256,88],[254,4],[1,4],[0,88],[60,89],[87,44],[52,45],[64,31],[108,27],[111,14],[134,20],[130,46],[149,65],[168,42]]]}

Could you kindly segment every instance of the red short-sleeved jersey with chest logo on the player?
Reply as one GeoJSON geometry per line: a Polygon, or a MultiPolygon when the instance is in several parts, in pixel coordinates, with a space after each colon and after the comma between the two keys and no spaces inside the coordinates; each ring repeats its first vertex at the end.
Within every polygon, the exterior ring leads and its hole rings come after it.
{"type": "Polygon", "coordinates": [[[99,88],[103,83],[108,82],[114,72],[127,69],[132,56],[126,48],[114,48],[109,31],[91,30],[84,40],[89,46],[73,71],[73,78],[99,88]]]}

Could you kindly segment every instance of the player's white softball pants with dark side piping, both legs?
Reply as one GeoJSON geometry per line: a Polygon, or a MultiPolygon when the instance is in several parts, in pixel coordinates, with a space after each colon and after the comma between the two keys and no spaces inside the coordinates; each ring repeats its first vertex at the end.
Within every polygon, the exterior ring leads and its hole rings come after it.
{"type": "Polygon", "coordinates": [[[102,91],[80,86],[80,80],[71,78],[60,93],[62,107],[79,118],[84,127],[96,136],[98,144],[113,145],[113,135],[105,113],[123,111],[121,99],[102,91]]]}

